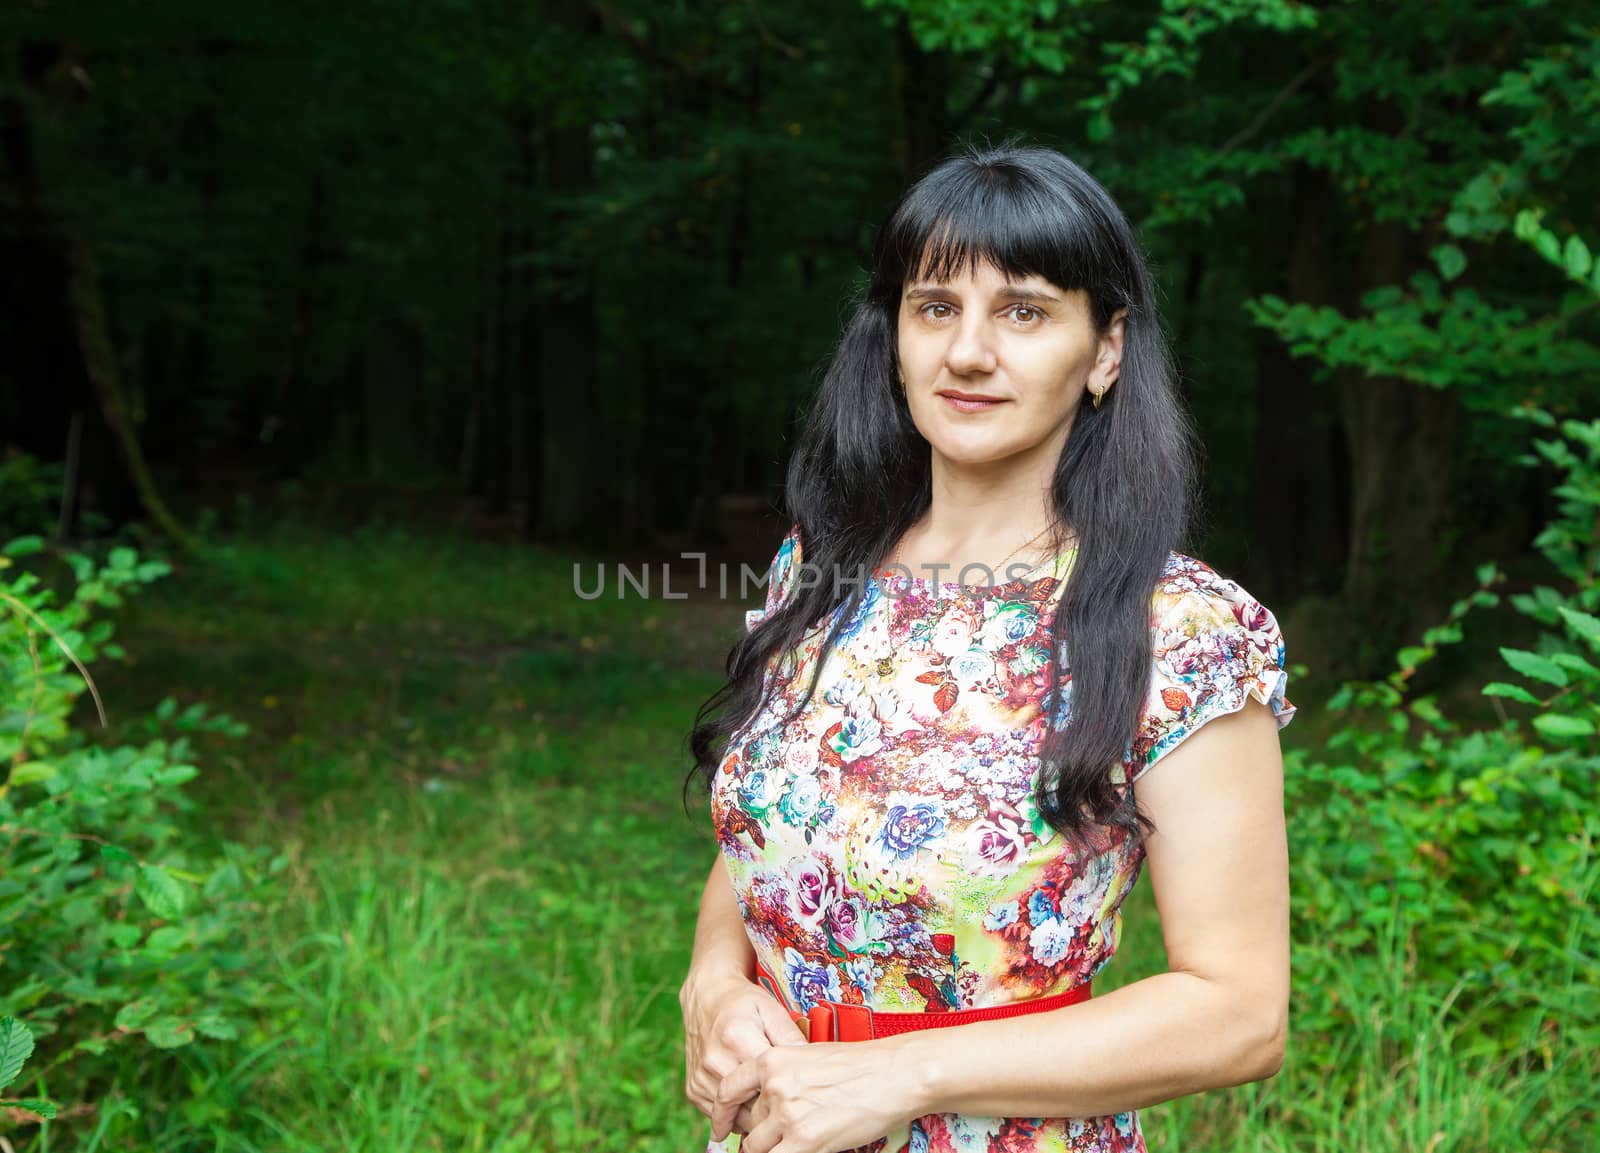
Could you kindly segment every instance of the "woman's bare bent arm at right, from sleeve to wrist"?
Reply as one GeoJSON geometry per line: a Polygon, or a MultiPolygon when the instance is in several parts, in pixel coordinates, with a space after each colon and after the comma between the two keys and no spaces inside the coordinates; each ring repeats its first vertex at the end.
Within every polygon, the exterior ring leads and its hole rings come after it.
{"type": "Polygon", "coordinates": [[[912,1116],[1099,1116],[1272,1076],[1290,1001],[1277,723],[1218,716],[1134,782],[1168,971],[1050,1012],[890,1038],[912,1116]]]}

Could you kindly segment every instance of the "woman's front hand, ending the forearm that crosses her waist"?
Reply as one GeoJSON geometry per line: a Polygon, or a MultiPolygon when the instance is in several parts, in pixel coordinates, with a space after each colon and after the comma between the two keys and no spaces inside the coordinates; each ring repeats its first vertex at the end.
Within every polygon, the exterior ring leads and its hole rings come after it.
{"type": "Polygon", "coordinates": [[[773,1046],[723,1079],[712,1140],[746,1134],[739,1153],[829,1153],[867,1145],[922,1116],[922,1087],[902,1038],[773,1046]],[[747,1126],[739,1129],[739,1123],[747,1126]]]}

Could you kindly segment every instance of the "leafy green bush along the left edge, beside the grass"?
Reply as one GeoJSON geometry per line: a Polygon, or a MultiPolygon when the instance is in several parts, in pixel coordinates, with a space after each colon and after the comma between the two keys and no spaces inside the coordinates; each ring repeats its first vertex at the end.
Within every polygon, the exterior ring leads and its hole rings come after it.
{"type": "MultiPolygon", "coordinates": [[[[261,995],[242,942],[275,870],[179,827],[190,737],[245,728],[171,699],[131,726],[133,744],[99,747],[72,728],[85,691],[101,707],[88,664],[122,656],[101,614],[168,569],[128,549],[106,563],[69,553],[75,579],[58,604],[14,563],[40,552],[37,537],[0,550],[0,1017],[38,1038],[30,1076],[62,1116],[133,1081],[141,1102],[181,1105],[181,1060],[166,1051],[234,1039],[261,995]]],[[[0,1132],[32,1119],[13,1108],[0,1132]]]]}

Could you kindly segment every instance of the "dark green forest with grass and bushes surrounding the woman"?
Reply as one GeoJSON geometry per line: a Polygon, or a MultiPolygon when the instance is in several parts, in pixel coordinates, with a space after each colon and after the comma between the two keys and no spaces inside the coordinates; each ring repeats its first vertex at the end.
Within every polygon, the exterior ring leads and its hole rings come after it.
{"type": "Polygon", "coordinates": [[[1301,705],[1288,1062],[1150,1148],[1594,1148],[1600,8],[19,0],[0,1150],[704,1140],[742,608],[573,566],[763,569],[877,227],[1002,139],[1136,225],[1301,705]]]}

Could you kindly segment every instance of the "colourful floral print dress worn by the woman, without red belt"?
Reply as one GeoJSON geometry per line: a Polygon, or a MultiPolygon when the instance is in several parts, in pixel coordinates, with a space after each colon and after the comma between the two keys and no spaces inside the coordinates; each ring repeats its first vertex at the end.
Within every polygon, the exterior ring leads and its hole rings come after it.
{"type": "MultiPolygon", "coordinates": [[[[1074,553],[1002,585],[880,569],[805,696],[826,630],[768,662],[773,699],[736,731],[712,779],[712,822],[750,944],[790,1009],[845,1001],[922,1012],[1066,991],[1115,955],[1120,905],[1144,846],[1101,827],[1093,852],[1064,846],[1034,808],[1046,723],[1064,724],[1070,680],[1046,721],[1051,616],[1074,553]]],[[[768,569],[755,628],[794,588],[798,525],[768,569]]],[[[840,609],[842,611],[842,609],[840,609]]],[[[1120,788],[1246,697],[1278,728],[1277,620],[1237,582],[1173,553],[1152,600],[1154,673],[1120,788]]],[[[738,1150],[739,1135],[707,1142],[738,1150]]],[[[1142,1153],[1136,1110],[1088,1118],[912,1119],[862,1153],[1142,1153]]]]}

